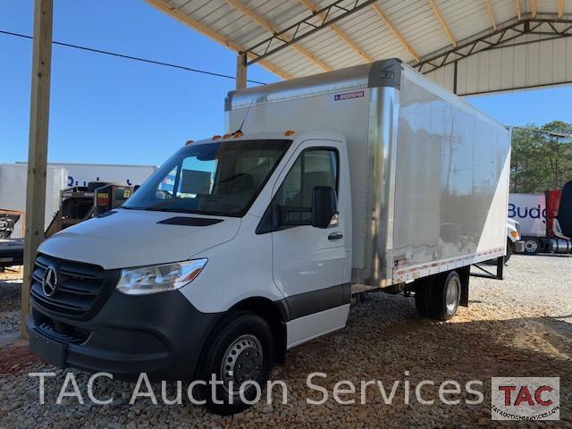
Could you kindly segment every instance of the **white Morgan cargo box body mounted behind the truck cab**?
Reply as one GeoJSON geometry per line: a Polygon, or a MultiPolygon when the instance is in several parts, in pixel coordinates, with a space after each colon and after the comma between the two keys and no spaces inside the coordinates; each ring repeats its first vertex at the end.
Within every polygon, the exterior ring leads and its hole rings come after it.
{"type": "Polygon", "coordinates": [[[231,93],[227,130],[346,139],[352,282],[386,286],[504,255],[510,134],[397,62],[231,93]]]}

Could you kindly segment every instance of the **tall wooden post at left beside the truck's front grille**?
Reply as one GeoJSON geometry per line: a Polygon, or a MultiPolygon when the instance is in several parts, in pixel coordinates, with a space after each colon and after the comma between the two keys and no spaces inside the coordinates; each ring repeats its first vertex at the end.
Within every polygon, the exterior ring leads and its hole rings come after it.
{"type": "Polygon", "coordinates": [[[26,239],[21,289],[22,337],[26,337],[29,287],[39,244],[44,240],[46,210],[47,126],[52,65],[53,0],[34,2],[31,101],[29,107],[28,178],[26,181],[26,239]]]}

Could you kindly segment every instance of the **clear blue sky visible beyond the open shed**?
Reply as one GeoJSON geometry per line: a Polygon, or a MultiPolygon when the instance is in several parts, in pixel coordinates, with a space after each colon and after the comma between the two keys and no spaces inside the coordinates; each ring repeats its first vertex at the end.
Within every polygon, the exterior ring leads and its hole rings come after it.
{"type": "MultiPolygon", "coordinates": [[[[236,54],[143,0],[55,0],[54,40],[234,75],[236,54]]],[[[0,0],[0,30],[32,34],[33,0],[0,0]]],[[[0,34],[0,164],[28,157],[31,40],[0,34]]],[[[279,80],[258,66],[248,79],[279,80]]],[[[49,162],[162,164],[224,131],[234,81],[53,46],[49,162]]],[[[572,88],[470,97],[508,125],[572,122],[572,88]]]]}

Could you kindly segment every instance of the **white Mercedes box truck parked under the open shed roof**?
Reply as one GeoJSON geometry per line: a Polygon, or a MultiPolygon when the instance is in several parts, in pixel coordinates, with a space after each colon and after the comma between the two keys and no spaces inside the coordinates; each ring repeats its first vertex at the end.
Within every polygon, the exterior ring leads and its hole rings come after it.
{"type": "Polygon", "coordinates": [[[343,328],[352,293],[411,291],[446,319],[470,265],[505,254],[509,130],[399,60],[231,92],[226,114],[229,134],[40,246],[32,351],[214,377],[206,404],[231,413],[242,383],[343,328]]]}

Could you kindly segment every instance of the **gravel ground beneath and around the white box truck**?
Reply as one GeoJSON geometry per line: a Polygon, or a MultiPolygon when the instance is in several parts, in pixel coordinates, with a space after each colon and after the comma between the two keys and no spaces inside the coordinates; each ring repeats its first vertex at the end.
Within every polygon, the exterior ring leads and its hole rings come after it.
{"type": "MultiPolygon", "coordinates": [[[[0,427],[514,427],[512,422],[491,421],[492,376],[559,376],[560,421],[519,425],[572,427],[571,272],[572,257],[515,256],[504,282],[473,279],[470,307],[460,308],[448,322],[418,317],[413,299],[369,294],[352,307],[346,329],[290,350],[286,365],[273,371],[273,380],[288,385],[287,405],[275,394],[272,406],[257,404],[230,417],[214,416],[184,402],[153,405],[143,398],[129,405],[133,385],[104,379],[96,383],[95,395],[104,399],[113,395],[114,401],[94,405],[87,397],[88,376],[76,371],[72,373],[86,404],[66,399],[64,405],[56,405],[66,371],[55,371],[25,352],[22,355],[22,348],[0,346],[5,356],[4,369],[0,362],[0,427]],[[38,371],[56,374],[46,382],[46,405],[38,403],[38,380],[28,376],[38,371]],[[379,380],[388,391],[394,381],[401,385],[408,381],[413,391],[424,379],[437,386],[452,379],[461,386],[470,380],[482,381],[484,387],[477,390],[484,392],[485,399],[479,405],[467,405],[464,399],[474,397],[463,393],[460,405],[442,405],[437,389],[425,386],[424,396],[437,399],[433,406],[415,399],[406,404],[403,388],[387,406],[372,388],[365,405],[359,404],[359,396],[345,395],[342,399],[352,397],[357,404],[329,400],[315,406],[307,404],[307,398],[320,398],[306,383],[312,372],[327,374],[315,383],[324,386],[330,397],[333,384],[340,380],[355,383],[359,393],[361,380],[379,380]]],[[[18,288],[19,283],[0,281],[0,332],[16,329],[13,313],[19,302],[18,288]]],[[[160,386],[154,384],[154,391],[160,398],[160,386]]]]}

